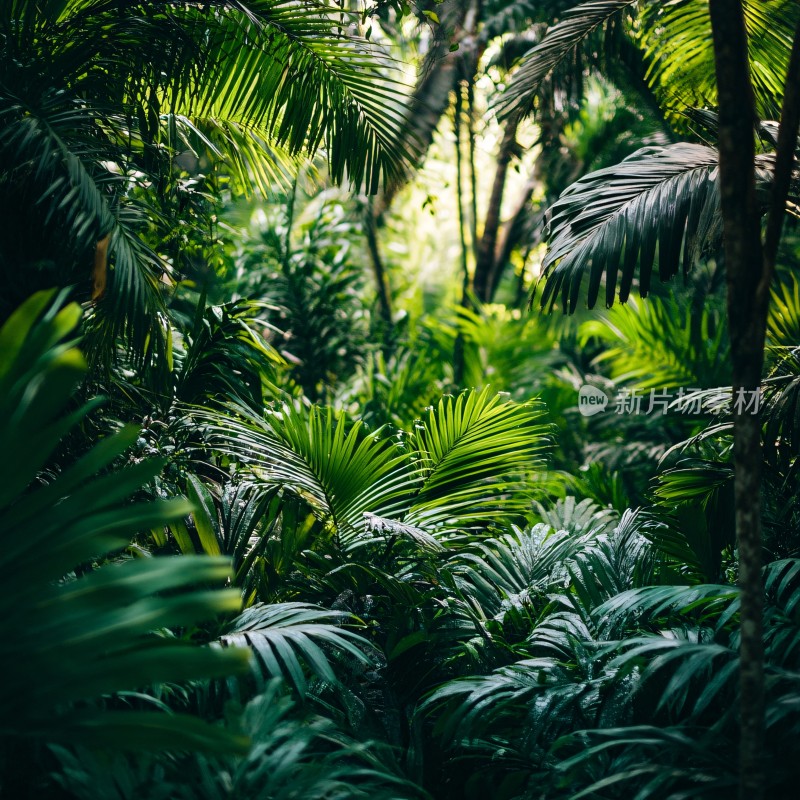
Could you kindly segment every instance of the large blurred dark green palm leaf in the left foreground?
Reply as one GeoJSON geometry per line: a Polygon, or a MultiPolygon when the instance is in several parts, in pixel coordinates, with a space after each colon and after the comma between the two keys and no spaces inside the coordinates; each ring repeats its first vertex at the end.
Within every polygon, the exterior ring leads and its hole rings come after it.
{"type": "Polygon", "coordinates": [[[90,410],[70,409],[86,371],[70,336],[75,305],[32,297],[0,330],[0,638],[2,736],[104,747],[241,748],[241,739],[185,716],[103,711],[102,695],[247,669],[244,651],[197,648],[154,631],[192,626],[239,607],[220,590],[225,559],[117,559],[132,536],[191,510],[182,500],[130,503],[162,463],[114,468],[136,439],[109,436],[72,466],[41,474],[90,410]],[[82,576],[81,576],[82,575],[82,576]],[[78,703],[79,705],[75,705],[78,703]]]}

